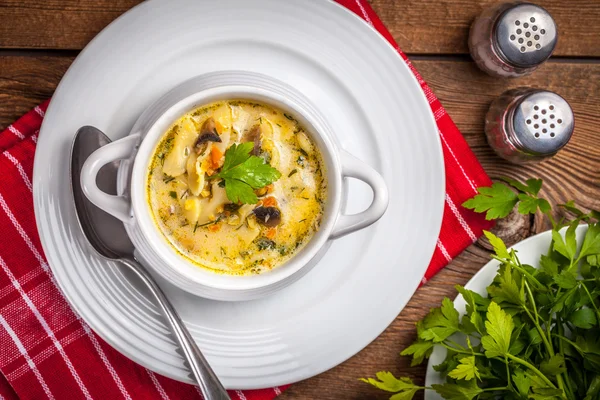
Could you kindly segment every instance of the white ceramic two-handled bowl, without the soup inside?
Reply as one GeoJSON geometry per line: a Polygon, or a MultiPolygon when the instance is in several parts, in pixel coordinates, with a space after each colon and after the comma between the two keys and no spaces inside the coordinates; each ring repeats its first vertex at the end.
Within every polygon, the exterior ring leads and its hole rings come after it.
{"type": "Polygon", "coordinates": [[[332,137],[332,129],[322,113],[291,86],[251,72],[210,73],[172,89],[140,116],[128,136],[94,152],[83,166],[81,186],[90,201],[125,223],[141,258],[166,280],[202,297],[249,300],[295,282],[316,265],[331,239],[369,226],[384,214],[388,192],[383,178],[370,166],[338,149],[332,137]],[[227,99],[256,100],[292,114],[319,147],[326,164],[328,192],[319,231],[285,264],[259,275],[221,275],[194,265],[167,243],[146,201],[150,157],[169,126],[201,105],[227,99]],[[119,196],[104,193],[96,185],[100,168],[115,160],[126,160],[119,171],[119,196]],[[359,179],[372,188],[373,201],[365,211],[353,215],[341,212],[346,193],[344,177],[359,179]]]}

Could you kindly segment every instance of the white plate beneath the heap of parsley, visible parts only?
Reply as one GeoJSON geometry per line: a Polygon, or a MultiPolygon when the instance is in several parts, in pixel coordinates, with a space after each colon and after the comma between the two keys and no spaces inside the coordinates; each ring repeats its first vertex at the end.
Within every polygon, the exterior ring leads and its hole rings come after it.
{"type": "MultiPolygon", "coordinates": [[[[581,225],[575,231],[577,235],[578,245],[581,245],[583,241],[583,237],[587,232],[587,225],[581,225]]],[[[524,264],[529,264],[535,268],[539,268],[540,266],[540,256],[542,254],[546,254],[548,252],[548,246],[552,241],[552,231],[546,231],[539,233],[535,236],[527,238],[514,246],[512,249],[515,249],[518,252],[519,260],[521,260],[524,264]]],[[[465,288],[472,290],[474,292],[479,293],[480,295],[487,297],[486,288],[492,283],[496,273],[498,272],[498,268],[500,267],[500,262],[497,260],[492,260],[485,264],[483,268],[477,272],[473,278],[465,285],[465,288]]],[[[454,299],[454,307],[462,316],[466,312],[465,299],[462,295],[456,296],[454,299]]],[[[441,375],[433,369],[434,365],[441,364],[446,358],[446,351],[441,346],[437,346],[433,353],[431,353],[431,357],[429,357],[429,362],[427,363],[427,372],[425,375],[425,384],[426,386],[430,386],[434,383],[444,383],[441,375]]],[[[437,394],[432,390],[428,390],[425,392],[425,400],[441,400],[442,396],[437,394]]]]}

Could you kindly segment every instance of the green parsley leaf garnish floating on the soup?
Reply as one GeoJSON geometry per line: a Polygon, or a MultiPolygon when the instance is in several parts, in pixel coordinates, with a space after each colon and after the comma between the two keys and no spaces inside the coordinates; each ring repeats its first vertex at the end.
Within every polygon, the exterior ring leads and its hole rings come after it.
{"type": "Polygon", "coordinates": [[[270,185],[281,177],[262,157],[250,155],[253,148],[253,142],[233,144],[225,152],[221,171],[211,176],[211,179],[223,179],[227,198],[234,204],[256,204],[258,197],[254,189],[270,185]]]}

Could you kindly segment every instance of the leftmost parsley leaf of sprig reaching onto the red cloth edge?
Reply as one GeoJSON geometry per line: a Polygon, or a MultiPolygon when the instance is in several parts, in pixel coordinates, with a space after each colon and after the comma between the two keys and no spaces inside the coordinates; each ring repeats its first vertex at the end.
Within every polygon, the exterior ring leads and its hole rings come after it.
{"type": "Polygon", "coordinates": [[[481,187],[477,191],[479,194],[465,201],[463,207],[476,212],[487,211],[487,220],[506,217],[519,201],[517,194],[502,183],[481,187]]]}

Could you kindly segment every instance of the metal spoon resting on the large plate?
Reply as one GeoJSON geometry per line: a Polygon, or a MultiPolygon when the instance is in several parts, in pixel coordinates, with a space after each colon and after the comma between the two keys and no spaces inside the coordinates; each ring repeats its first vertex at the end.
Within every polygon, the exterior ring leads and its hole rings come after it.
{"type": "MultiPolygon", "coordinates": [[[[191,377],[198,383],[204,398],[207,400],[230,399],[171,302],[154,278],[135,260],[133,243],[127,236],[123,224],[93,205],[81,190],[79,176],[83,163],[92,152],[108,143],[110,143],[110,139],[92,126],[80,128],[73,141],[71,148],[71,189],[81,230],[100,256],[118,261],[129,267],[148,286],[163,315],[171,325],[171,331],[187,361],[186,365],[192,372],[191,377]]],[[[107,193],[115,193],[116,191],[117,167],[118,162],[108,164],[98,174],[98,186],[106,190],[107,193]]]]}

